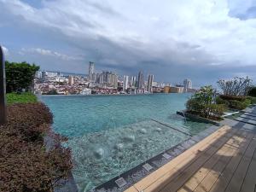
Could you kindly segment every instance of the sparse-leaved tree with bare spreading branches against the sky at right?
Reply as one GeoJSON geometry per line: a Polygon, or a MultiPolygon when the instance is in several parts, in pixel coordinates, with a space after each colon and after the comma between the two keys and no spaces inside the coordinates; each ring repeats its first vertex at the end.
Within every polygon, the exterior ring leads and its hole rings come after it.
{"type": "Polygon", "coordinates": [[[247,96],[247,92],[252,84],[252,79],[248,77],[236,77],[230,80],[220,79],[217,84],[226,96],[247,96]]]}

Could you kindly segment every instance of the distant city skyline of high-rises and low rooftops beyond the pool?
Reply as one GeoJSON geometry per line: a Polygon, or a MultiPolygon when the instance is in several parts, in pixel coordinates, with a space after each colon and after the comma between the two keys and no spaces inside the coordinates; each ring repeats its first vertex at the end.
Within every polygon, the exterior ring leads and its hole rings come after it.
{"type": "Polygon", "coordinates": [[[195,92],[192,82],[185,79],[183,84],[165,84],[154,81],[154,75],[140,71],[137,76],[118,76],[117,73],[102,71],[96,73],[95,63],[89,63],[88,75],[39,71],[34,80],[37,94],[150,94],[195,92]]]}

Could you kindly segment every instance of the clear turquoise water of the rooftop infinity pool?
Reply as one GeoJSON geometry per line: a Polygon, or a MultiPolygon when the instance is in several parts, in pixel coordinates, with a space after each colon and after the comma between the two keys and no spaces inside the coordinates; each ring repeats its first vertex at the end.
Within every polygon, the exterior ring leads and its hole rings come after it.
{"type": "Polygon", "coordinates": [[[54,114],[54,130],[69,137],[79,189],[91,189],[175,146],[209,125],[184,120],[189,94],[40,96],[54,114]]]}

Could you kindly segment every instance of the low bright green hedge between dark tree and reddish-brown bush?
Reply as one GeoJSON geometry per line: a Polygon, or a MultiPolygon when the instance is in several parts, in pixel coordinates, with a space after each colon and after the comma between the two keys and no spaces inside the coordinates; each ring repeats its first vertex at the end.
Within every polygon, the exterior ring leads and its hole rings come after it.
{"type": "Polygon", "coordinates": [[[38,102],[37,96],[35,96],[32,93],[26,92],[26,93],[8,93],[6,94],[7,97],[7,104],[12,105],[15,103],[34,103],[38,102]]]}

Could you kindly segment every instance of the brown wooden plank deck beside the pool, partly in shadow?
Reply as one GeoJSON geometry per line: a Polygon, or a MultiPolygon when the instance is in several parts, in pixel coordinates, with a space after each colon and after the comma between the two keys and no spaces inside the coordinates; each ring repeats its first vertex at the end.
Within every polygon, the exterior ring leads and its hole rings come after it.
{"type": "Polygon", "coordinates": [[[126,192],[256,191],[256,136],[223,126],[126,192]]]}

